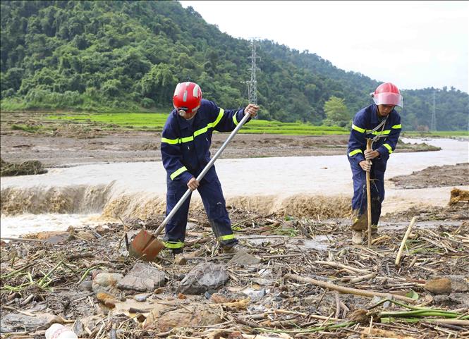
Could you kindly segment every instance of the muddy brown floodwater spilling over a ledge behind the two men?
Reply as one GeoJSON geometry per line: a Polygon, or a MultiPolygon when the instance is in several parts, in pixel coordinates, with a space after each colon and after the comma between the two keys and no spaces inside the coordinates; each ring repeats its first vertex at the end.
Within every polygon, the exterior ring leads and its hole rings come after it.
{"type": "MultiPolygon", "coordinates": [[[[468,162],[468,140],[425,142],[441,147],[441,151],[391,154],[384,214],[424,205],[441,207],[449,201],[452,186],[402,190],[389,181],[391,176],[410,175],[429,166],[468,162]]],[[[230,207],[315,216],[317,204],[317,210],[328,206],[332,209],[329,216],[340,217],[350,204],[353,186],[345,155],[221,159],[215,166],[230,207]]],[[[89,164],[50,168],[42,175],[4,177],[1,234],[18,236],[95,225],[118,216],[145,218],[162,214],[165,194],[166,172],[161,161],[89,164]]],[[[191,208],[200,207],[195,192],[191,208]]]]}

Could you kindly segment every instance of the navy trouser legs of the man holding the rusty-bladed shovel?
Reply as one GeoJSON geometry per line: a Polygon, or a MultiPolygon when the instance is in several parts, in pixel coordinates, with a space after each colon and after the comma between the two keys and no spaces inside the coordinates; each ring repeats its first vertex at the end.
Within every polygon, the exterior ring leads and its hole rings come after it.
{"type": "MultiPolygon", "coordinates": [[[[187,186],[180,180],[166,180],[168,185],[168,193],[166,194],[166,215],[178,203],[179,199],[184,195],[187,186]]],[[[234,245],[238,240],[231,230],[231,222],[226,211],[226,203],[221,190],[220,182],[217,175],[208,182],[202,179],[197,191],[202,197],[202,202],[209,218],[210,226],[215,237],[222,246],[234,245]]],[[[166,234],[164,240],[167,242],[184,242],[185,227],[188,221],[188,211],[190,205],[190,196],[185,200],[183,205],[174,214],[173,218],[166,224],[166,234]]]]}

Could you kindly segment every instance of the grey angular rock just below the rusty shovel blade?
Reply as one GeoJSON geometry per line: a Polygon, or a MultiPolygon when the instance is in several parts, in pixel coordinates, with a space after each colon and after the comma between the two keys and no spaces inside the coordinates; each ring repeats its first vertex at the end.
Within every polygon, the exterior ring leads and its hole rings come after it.
{"type": "Polygon", "coordinates": [[[155,288],[166,283],[165,274],[149,263],[138,262],[118,282],[117,287],[122,290],[136,290],[152,292],[155,288]]]}

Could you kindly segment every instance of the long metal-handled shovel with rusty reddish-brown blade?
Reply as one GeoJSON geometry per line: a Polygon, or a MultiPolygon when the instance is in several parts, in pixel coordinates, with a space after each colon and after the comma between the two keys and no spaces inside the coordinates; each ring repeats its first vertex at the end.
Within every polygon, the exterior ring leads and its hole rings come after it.
{"type": "MultiPolygon", "coordinates": [[[[217,153],[212,157],[212,159],[209,161],[209,163],[205,166],[205,168],[202,170],[202,172],[197,176],[197,181],[200,182],[202,178],[204,178],[204,175],[209,171],[209,169],[213,166],[214,162],[218,159],[220,154],[224,151],[226,146],[229,144],[231,139],[236,135],[238,130],[240,130],[241,127],[243,127],[244,123],[248,121],[250,118],[249,114],[245,114],[243,119],[238,123],[236,128],[231,132],[229,137],[226,138],[226,141],[224,144],[221,145],[220,149],[217,151],[217,153]]],[[[166,223],[168,223],[171,218],[176,214],[178,209],[182,206],[183,202],[185,202],[185,199],[187,199],[192,191],[187,190],[185,191],[183,197],[179,199],[178,203],[176,204],[173,209],[171,209],[171,212],[164,218],[164,221],[162,224],[157,228],[154,234],[147,232],[147,230],[140,230],[140,232],[135,235],[135,238],[132,240],[130,243],[130,247],[128,249],[128,252],[131,256],[140,258],[142,260],[146,261],[153,261],[156,259],[157,255],[159,252],[161,252],[162,249],[164,249],[164,243],[159,241],[157,239],[157,236],[159,233],[162,232],[164,229],[164,226],[166,226],[166,223]]]]}

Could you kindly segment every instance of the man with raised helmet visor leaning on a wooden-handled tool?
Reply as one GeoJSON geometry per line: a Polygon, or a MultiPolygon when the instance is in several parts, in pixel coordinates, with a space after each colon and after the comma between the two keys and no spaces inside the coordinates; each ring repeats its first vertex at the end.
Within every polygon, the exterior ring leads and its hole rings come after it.
{"type": "Polygon", "coordinates": [[[348,161],[353,178],[352,242],[363,242],[367,229],[367,183],[370,172],[372,230],[376,231],[384,200],[384,172],[389,155],[394,152],[401,133],[401,116],[395,107],[403,106],[396,85],[386,82],[371,94],[374,104],[358,111],[353,118],[348,140],[348,161]],[[372,149],[367,150],[367,139],[372,139],[372,149]]]}

